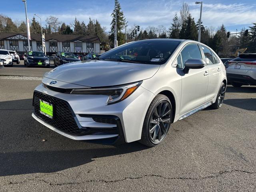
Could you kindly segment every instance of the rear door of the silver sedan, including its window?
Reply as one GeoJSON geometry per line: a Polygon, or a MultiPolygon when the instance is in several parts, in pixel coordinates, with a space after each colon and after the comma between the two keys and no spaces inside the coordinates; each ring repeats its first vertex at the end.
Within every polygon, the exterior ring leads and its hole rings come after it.
{"type": "Polygon", "coordinates": [[[208,102],[214,99],[214,97],[218,93],[221,80],[222,64],[210,49],[208,49],[205,46],[201,46],[201,48],[204,53],[204,59],[205,62],[207,63],[209,70],[209,85],[205,96],[206,102],[208,102]]]}

